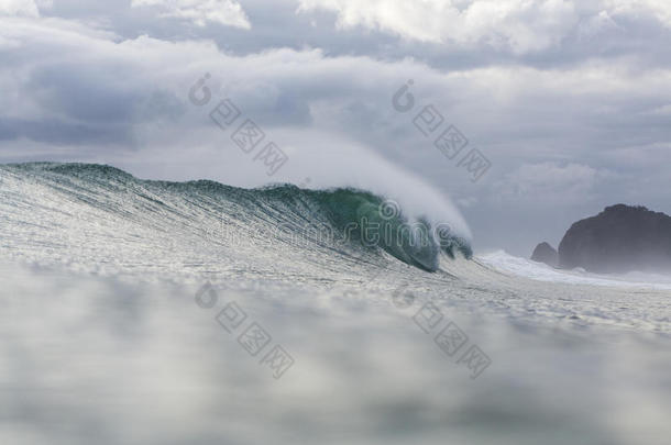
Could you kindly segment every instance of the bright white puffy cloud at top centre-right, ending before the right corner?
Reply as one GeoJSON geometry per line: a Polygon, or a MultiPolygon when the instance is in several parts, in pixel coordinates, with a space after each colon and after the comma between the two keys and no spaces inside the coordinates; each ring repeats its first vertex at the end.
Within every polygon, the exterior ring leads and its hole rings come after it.
{"type": "Polygon", "coordinates": [[[432,43],[486,43],[515,53],[557,44],[579,21],[566,0],[300,0],[299,11],[315,9],[337,12],[341,27],[432,43]]]}

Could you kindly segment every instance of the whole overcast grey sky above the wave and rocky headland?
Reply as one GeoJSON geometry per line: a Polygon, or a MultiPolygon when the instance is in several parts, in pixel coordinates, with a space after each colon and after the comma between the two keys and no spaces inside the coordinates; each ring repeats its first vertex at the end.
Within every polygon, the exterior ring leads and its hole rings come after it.
{"type": "Polygon", "coordinates": [[[392,175],[380,155],[450,196],[480,251],[557,246],[619,202],[671,213],[669,0],[0,0],[0,97],[1,163],[319,187],[392,175]],[[209,119],[224,98],[289,156],[273,178],[209,119]]]}

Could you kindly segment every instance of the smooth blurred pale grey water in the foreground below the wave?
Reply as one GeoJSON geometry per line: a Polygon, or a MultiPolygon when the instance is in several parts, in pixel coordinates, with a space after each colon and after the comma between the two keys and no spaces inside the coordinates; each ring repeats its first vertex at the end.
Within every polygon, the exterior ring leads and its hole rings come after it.
{"type": "MultiPolygon", "coordinates": [[[[666,333],[474,314],[477,379],[373,291],[142,283],[3,268],[2,444],[667,444],[666,333]],[[370,294],[373,292],[375,294],[370,294]],[[275,379],[216,315],[235,301],[290,352],[275,379]],[[524,321],[522,321],[524,320],[524,321]]],[[[417,293],[421,304],[426,297],[417,293]]]]}

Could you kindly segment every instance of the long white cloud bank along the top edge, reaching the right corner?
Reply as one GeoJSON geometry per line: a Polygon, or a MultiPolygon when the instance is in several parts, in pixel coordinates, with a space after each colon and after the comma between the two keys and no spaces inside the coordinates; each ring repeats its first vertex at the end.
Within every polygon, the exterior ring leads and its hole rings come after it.
{"type": "Polygon", "coordinates": [[[576,31],[584,37],[616,27],[612,18],[652,18],[671,27],[669,0],[299,0],[299,12],[314,10],[334,12],[341,29],[517,55],[556,47],[576,31]]]}

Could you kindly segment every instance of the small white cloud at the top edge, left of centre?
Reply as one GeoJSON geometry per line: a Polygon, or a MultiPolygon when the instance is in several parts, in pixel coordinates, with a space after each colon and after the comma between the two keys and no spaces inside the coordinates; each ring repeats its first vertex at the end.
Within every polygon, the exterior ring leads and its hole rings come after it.
{"type": "Polygon", "coordinates": [[[198,26],[212,22],[251,29],[246,13],[233,0],[132,0],[131,7],[154,7],[163,11],[161,16],[188,20],[198,26]]]}

